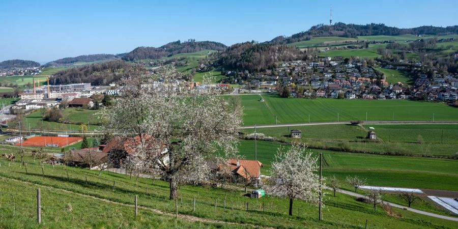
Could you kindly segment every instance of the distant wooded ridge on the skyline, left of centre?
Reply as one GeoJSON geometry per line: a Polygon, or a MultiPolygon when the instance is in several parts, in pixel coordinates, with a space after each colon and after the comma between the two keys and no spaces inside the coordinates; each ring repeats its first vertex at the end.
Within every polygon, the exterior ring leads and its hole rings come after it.
{"type": "Polygon", "coordinates": [[[144,59],[160,59],[164,56],[174,55],[178,53],[190,53],[197,52],[204,49],[212,49],[217,51],[223,51],[227,48],[226,45],[213,42],[213,41],[194,41],[189,40],[187,42],[170,42],[161,47],[138,47],[124,54],[122,57],[125,61],[138,61],[144,59]]]}

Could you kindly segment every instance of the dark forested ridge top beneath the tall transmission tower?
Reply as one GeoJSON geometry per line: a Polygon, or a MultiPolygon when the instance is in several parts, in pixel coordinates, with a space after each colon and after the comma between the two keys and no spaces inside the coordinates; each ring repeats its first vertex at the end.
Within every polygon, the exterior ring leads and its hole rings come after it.
{"type": "Polygon", "coordinates": [[[397,28],[385,24],[345,24],[338,22],[332,26],[319,24],[312,26],[308,31],[293,34],[291,37],[276,37],[269,41],[271,44],[289,44],[298,41],[310,40],[311,37],[351,37],[358,36],[397,36],[397,35],[448,35],[458,34],[458,25],[447,27],[420,26],[415,28],[397,28]]]}

